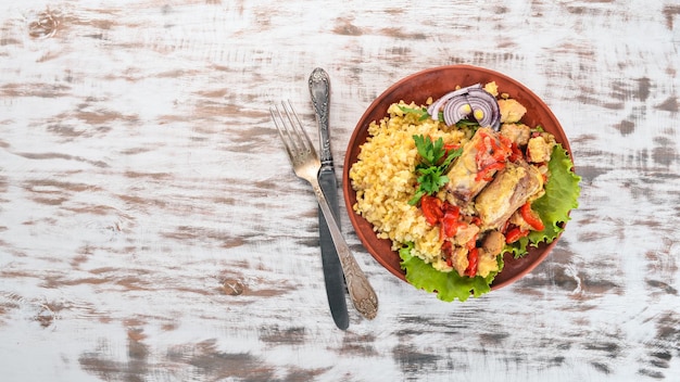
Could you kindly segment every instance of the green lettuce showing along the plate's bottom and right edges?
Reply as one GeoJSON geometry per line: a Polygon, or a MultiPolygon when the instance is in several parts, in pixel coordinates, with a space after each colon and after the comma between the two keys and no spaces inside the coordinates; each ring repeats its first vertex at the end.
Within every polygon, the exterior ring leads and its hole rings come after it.
{"type": "MultiPolygon", "coordinates": [[[[515,257],[527,254],[527,245],[538,245],[540,242],[550,243],[564,230],[564,222],[569,220],[569,211],[578,207],[580,195],[579,182],[581,177],[574,174],[574,163],[567,151],[556,145],[547,164],[551,176],[545,184],[545,194],[534,201],[531,207],[541,216],[545,226],[540,232],[531,232],[512,245],[506,245],[505,252],[515,257]]],[[[466,301],[470,296],[479,297],[491,291],[491,282],[498,272],[488,277],[461,277],[456,271],[440,272],[421,258],[412,255],[413,243],[407,243],[400,252],[401,267],[406,271],[406,281],[417,289],[427,292],[437,292],[437,297],[445,302],[466,301]]],[[[503,269],[503,256],[498,256],[499,271],[503,269]]]]}

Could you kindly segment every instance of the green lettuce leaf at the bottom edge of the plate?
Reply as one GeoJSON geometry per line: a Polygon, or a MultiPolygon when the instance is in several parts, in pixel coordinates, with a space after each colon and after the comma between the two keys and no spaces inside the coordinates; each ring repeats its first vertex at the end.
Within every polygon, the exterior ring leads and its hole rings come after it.
{"type": "MultiPolygon", "coordinates": [[[[437,297],[445,302],[452,302],[456,298],[464,302],[470,295],[479,297],[491,291],[491,282],[498,272],[491,272],[486,278],[481,276],[461,277],[455,270],[440,272],[420,257],[413,256],[411,254],[412,249],[413,243],[408,243],[399,251],[399,256],[402,259],[402,269],[406,270],[406,281],[413,286],[430,293],[437,292],[437,297]]],[[[503,269],[503,256],[499,256],[496,260],[499,262],[499,269],[503,269]]]]}

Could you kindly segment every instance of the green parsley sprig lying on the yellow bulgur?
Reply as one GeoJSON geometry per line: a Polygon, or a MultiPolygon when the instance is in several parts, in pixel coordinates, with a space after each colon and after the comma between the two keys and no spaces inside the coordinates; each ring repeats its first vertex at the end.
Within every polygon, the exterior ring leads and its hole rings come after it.
{"type": "Polygon", "coordinates": [[[408,204],[416,205],[423,195],[436,194],[449,182],[449,177],[444,174],[453,160],[461,155],[463,149],[446,151],[444,140],[441,137],[435,142],[430,137],[424,136],[413,136],[413,140],[416,142],[416,149],[418,149],[418,154],[421,157],[421,162],[416,165],[418,189],[408,201],[408,204]]]}

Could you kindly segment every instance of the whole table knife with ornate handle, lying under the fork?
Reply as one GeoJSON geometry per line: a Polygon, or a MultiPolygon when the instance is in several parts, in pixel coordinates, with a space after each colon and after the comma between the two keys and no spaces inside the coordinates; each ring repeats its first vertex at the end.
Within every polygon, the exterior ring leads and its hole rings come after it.
{"type": "MultiPolygon", "coordinates": [[[[319,158],[322,168],[318,171],[318,183],[328,200],[336,221],[339,221],[338,184],[330,151],[330,136],[328,131],[328,112],[330,107],[330,78],[328,73],[320,67],[312,71],[310,75],[310,96],[314,105],[314,114],[318,125],[319,158]]],[[[350,326],[348,306],[345,301],[344,275],[338,252],[330,237],[330,231],[320,209],[318,213],[319,244],[322,247],[322,265],[324,268],[324,281],[328,306],[336,326],[345,330],[350,326]]]]}

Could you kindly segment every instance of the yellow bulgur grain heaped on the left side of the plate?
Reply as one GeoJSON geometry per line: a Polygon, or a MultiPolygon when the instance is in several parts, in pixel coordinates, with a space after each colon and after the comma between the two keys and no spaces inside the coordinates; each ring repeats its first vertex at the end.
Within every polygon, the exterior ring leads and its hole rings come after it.
{"type": "Polygon", "coordinates": [[[441,137],[445,144],[462,144],[466,135],[431,118],[420,120],[414,113],[404,113],[400,105],[421,107],[403,101],[394,103],[388,109],[388,117],[369,125],[369,137],[350,168],[356,191],[353,209],[373,224],[379,238],[390,239],[393,250],[413,242],[413,255],[436,269],[451,270],[441,258],[439,227],[428,225],[421,211],[408,204],[417,187],[418,151],[413,136],[429,136],[433,141],[441,137]]]}

